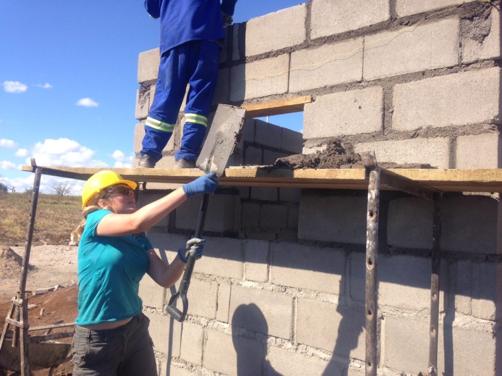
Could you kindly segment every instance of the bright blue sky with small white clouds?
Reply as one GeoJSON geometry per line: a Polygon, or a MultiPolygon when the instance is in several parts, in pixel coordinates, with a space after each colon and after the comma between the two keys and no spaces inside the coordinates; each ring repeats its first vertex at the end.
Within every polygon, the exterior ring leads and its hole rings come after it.
{"type": "MultiPolygon", "coordinates": [[[[239,0],[234,23],[301,3],[239,0]]],[[[38,165],[130,167],[138,55],[159,43],[159,22],[143,1],[4,0],[0,14],[0,181],[16,192],[31,188],[33,174],[20,170],[30,157],[38,165]]],[[[52,193],[55,183],[44,175],[41,191],[52,193]]],[[[71,183],[79,194],[83,182],[71,183]]]]}

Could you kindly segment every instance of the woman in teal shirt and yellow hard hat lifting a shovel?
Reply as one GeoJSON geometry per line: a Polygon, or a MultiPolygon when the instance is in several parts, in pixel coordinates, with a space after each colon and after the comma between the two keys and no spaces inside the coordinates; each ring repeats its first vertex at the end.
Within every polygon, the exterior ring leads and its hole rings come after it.
{"type": "Polygon", "coordinates": [[[84,220],[73,234],[80,239],[74,376],[157,375],[139,283],[148,273],[159,285],[171,287],[188,255],[202,256],[204,240],[189,240],[166,265],[145,231],[189,197],[214,193],[216,186],[216,175],[206,174],[138,209],[134,181],[103,170],[85,182],[84,220]]]}

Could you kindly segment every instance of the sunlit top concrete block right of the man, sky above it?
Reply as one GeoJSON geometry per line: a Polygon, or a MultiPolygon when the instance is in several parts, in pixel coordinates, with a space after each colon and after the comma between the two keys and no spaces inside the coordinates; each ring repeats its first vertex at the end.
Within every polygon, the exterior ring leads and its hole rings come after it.
{"type": "Polygon", "coordinates": [[[245,56],[293,47],[305,41],[307,5],[269,13],[246,22],[245,56]]]}

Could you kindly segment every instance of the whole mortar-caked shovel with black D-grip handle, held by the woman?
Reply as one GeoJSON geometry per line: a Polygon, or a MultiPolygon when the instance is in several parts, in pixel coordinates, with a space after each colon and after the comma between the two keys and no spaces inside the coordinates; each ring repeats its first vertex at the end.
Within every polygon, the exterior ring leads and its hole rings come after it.
{"type": "MultiPolygon", "coordinates": [[[[204,145],[200,152],[195,165],[205,173],[212,172],[217,176],[221,176],[225,170],[228,158],[237,144],[238,135],[244,124],[244,116],[246,110],[240,107],[220,104],[214,114],[214,119],[211,123],[209,133],[207,134],[204,145]]],[[[195,238],[201,238],[204,230],[204,222],[206,219],[207,205],[209,203],[209,195],[204,194],[202,204],[200,206],[199,217],[197,219],[197,227],[195,229],[195,238]]],[[[188,256],[187,266],[183,273],[179,291],[171,296],[167,306],[167,312],[177,321],[184,321],[188,311],[188,286],[192,277],[193,268],[195,266],[195,258],[188,256]],[[180,311],[174,305],[178,296],[183,302],[183,311],[180,311]]]]}

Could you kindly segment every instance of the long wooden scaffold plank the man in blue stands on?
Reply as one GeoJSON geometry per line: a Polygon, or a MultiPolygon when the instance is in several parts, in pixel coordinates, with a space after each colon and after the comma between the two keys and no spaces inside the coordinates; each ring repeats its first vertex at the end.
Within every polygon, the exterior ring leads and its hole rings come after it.
{"type": "MultiPolygon", "coordinates": [[[[43,174],[87,180],[102,168],[39,166],[43,174]]],[[[23,166],[32,171],[32,166],[23,166]]],[[[173,168],[111,168],[124,179],[145,182],[186,183],[201,176],[199,169],[173,168]]],[[[419,181],[442,192],[502,192],[502,169],[406,169],[389,171],[419,181]]],[[[262,167],[231,167],[219,179],[223,186],[275,186],[308,189],[367,190],[363,168],[286,169],[262,167]]],[[[382,186],[383,190],[389,187],[382,186]]]]}

